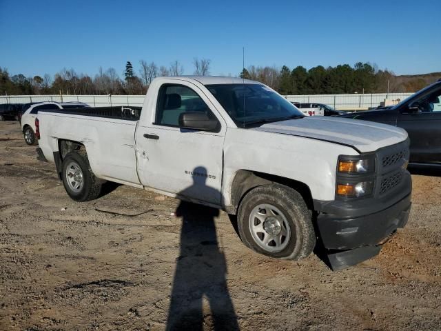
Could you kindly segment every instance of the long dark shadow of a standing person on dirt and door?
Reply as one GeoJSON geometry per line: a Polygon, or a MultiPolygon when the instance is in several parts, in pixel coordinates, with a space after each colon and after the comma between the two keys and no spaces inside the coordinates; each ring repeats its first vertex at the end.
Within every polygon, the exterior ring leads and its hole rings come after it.
{"type": "MultiPolygon", "coordinates": [[[[207,170],[199,167],[194,172],[206,174],[207,170]]],[[[194,184],[179,195],[187,196],[201,187],[210,195],[219,194],[205,185],[204,177],[193,179],[194,184]]],[[[181,251],[176,259],[167,330],[203,330],[203,325],[213,330],[238,330],[225,278],[227,265],[216,237],[214,218],[218,215],[219,210],[185,201],[176,208],[176,217],[182,218],[181,251]],[[209,308],[204,309],[204,297],[209,308]]]]}

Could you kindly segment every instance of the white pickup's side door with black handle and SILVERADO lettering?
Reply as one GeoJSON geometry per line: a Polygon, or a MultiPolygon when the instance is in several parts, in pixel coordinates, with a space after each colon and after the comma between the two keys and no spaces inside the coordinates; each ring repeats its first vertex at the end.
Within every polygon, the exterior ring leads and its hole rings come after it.
{"type": "Polygon", "coordinates": [[[221,205],[225,121],[192,83],[171,81],[158,92],[154,121],[136,130],[138,174],[145,187],[199,203],[221,205]],[[185,112],[205,112],[218,130],[183,128],[185,112]]]}

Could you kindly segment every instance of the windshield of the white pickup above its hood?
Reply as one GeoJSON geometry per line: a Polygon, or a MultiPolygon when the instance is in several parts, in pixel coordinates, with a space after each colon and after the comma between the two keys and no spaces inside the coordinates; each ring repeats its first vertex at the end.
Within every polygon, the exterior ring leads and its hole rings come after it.
{"type": "Polygon", "coordinates": [[[239,128],[304,117],[292,103],[260,84],[207,85],[239,128]]]}

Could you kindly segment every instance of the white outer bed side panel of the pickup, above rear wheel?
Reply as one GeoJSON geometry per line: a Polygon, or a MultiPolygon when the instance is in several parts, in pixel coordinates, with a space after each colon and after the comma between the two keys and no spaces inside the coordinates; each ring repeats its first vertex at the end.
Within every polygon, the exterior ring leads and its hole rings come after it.
{"type": "Polygon", "coordinates": [[[59,140],[82,143],[96,177],[139,185],[134,132],[136,121],[39,112],[39,146],[49,161],[59,140]]]}

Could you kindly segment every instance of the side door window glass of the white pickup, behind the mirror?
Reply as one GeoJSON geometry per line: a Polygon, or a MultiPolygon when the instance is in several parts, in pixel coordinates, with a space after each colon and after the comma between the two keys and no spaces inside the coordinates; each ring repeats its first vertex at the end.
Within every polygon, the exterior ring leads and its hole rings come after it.
{"type": "Polygon", "coordinates": [[[179,116],[184,112],[205,112],[210,118],[214,118],[205,102],[191,88],[175,84],[162,86],[159,90],[155,124],[179,127],[179,116]]]}

